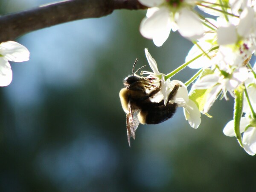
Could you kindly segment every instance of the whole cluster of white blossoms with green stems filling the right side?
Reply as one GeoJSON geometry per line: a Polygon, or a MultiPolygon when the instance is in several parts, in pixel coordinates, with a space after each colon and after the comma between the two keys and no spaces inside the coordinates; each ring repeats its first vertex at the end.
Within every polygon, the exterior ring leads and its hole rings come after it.
{"type": "MultiPolygon", "coordinates": [[[[236,136],[244,150],[255,155],[256,67],[253,68],[249,62],[256,51],[256,0],[139,2],[148,6],[146,17],[140,24],[140,32],[152,39],[156,46],[163,45],[171,30],[178,31],[194,43],[186,56],[186,63],[168,75],[160,74],[155,70],[157,68],[151,66],[154,75],[163,81],[163,85],[166,83],[169,86],[172,82],[169,78],[184,67],[198,69],[185,85],[189,86],[195,81],[189,92],[189,100],[196,103],[198,111],[205,115],[209,115],[208,111],[218,97],[234,97],[234,119],[227,123],[223,132],[227,136],[236,136]],[[202,11],[212,17],[204,17],[202,11]]],[[[163,98],[169,93],[164,93],[166,90],[169,89],[163,87],[163,98]]],[[[189,121],[199,122],[196,120],[198,117],[195,115],[189,121]]]]}

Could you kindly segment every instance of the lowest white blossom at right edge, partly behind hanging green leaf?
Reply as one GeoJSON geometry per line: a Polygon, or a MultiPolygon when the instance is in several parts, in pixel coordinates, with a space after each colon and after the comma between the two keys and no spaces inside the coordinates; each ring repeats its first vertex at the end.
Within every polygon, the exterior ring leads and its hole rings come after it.
{"type": "MultiPolygon", "coordinates": [[[[223,132],[229,137],[236,136],[234,131],[234,120],[231,120],[224,127],[223,132]]],[[[243,133],[242,143],[244,150],[249,155],[256,154],[256,120],[250,115],[241,117],[240,121],[240,133],[243,133]]]]}

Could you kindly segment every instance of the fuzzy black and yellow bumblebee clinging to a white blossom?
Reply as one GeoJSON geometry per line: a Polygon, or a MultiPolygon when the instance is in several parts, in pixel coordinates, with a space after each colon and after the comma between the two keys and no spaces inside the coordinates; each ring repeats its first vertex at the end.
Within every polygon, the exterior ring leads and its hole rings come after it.
{"type": "Polygon", "coordinates": [[[180,84],[176,84],[169,94],[168,102],[164,105],[164,101],[159,103],[152,102],[153,98],[161,90],[161,82],[159,86],[152,83],[152,78],[141,77],[136,73],[142,69],[138,69],[132,75],[124,79],[125,88],[119,92],[122,108],[126,113],[126,128],[128,143],[131,147],[130,138],[135,139],[135,131],[139,124],[158,124],[168,120],[175,113],[177,103],[172,102],[177,94],[180,84]]]}

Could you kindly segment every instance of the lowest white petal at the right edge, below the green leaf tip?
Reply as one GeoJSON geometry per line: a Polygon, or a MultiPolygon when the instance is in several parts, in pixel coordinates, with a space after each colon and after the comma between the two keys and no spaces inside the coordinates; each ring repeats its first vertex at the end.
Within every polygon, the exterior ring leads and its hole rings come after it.
{"type": "Polygon", "coordinates": [[[255,127],[249,127],[243,135],[242,143],[244,150],[249,155],[256,154],[256,129],[255,127]]]}

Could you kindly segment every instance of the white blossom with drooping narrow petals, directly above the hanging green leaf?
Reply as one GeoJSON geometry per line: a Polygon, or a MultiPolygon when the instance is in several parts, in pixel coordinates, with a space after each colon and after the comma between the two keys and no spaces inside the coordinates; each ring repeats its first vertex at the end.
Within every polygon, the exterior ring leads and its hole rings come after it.
{"type": "Polygon", "coordinates": [[[210,89],[203,112],[207,113],[209,111],[221,91],[223,91],[226,100],[228,99],[227,91],[230,92],[230,95],[234,96],[234,89],[240,86],[247,78],[247,68],[241,67],[234,71],[215,69],[213,74],[205,75],[199,79],[195,83],[194,89],[210,89]]]}

